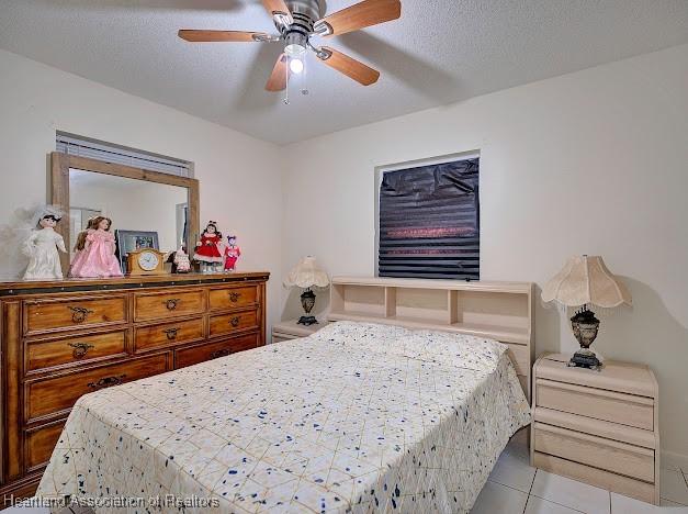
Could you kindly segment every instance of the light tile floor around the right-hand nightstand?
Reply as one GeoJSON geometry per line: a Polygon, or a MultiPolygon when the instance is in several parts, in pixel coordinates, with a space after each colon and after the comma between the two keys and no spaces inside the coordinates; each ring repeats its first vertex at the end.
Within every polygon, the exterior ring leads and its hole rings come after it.
{"type": "Polygon", "coordinates": [[[663,469],[662,506],[530,466],[527,431],[516,434],[477,496],[472,514],[688,514],[688,469],[663,469]]]}

